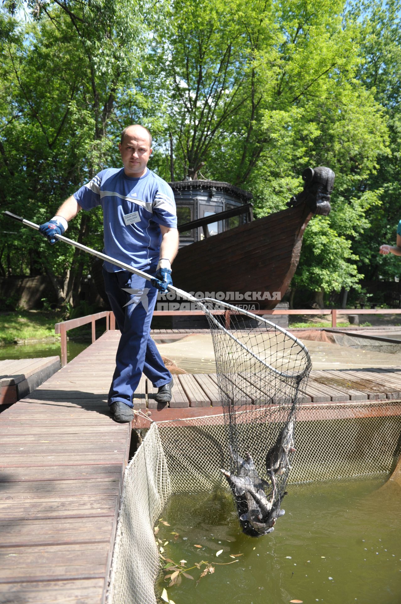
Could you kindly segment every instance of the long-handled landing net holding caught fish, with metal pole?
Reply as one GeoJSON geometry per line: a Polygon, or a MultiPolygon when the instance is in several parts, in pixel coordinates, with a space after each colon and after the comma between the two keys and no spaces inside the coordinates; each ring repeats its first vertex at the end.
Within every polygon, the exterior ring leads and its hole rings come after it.
{"type": "MultiPolygon", "coordinates": [[[[29,220],[5,214],[39,230],[29,220]]],[[[152,278],[68,237],[57,239],[124,271],[152,278]]],[[[209,321],[226,427],[227,467],[221,471],[231,487],[242,530],[265,535],[284,511],[300,393],[305,392],[311,370],[309,352],[295,336],[263,317],[212,298],[198,300],[174,286],[168,289],[196,303],[209,321]]]]}

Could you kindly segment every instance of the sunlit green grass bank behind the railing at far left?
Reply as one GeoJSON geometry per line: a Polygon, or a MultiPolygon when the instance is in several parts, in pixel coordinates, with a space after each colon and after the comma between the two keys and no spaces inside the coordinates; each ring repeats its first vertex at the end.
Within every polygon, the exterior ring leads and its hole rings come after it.
{"type": "Polygon", "coordinates": [[[58,341],[54,324],[62,321],[54,311],[22,310],[0,313],[0,345],[33,341],[58,341]]]}

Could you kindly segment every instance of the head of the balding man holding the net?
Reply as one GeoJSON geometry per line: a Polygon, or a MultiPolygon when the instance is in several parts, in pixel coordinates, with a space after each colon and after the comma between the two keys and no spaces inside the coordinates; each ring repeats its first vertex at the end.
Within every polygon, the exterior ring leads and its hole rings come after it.
{"type": "Polygon", "coordinates": [[[133,178],[143,176],[152,152],[147,131],[141,126],[129,128],[118,147],[125,175],[133,178]]]}

